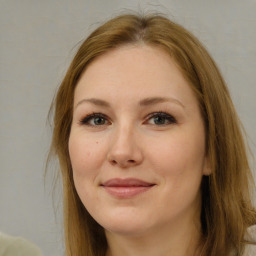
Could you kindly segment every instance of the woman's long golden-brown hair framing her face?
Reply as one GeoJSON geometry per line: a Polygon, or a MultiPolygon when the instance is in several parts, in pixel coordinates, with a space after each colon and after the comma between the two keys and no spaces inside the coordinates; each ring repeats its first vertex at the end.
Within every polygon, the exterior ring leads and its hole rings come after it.
{"type": "Polygon", "coordinates": [[[50,154],[60,163],[67,256],[104,256],[104,230],[88,214],[74,186],[68,141],[76,84],[86,67],[127,44],[161,47],[178,64],[197,96],[206,127],[211,175],[202,180],[202,256],[241,255],[246,229],[256,223],[250,198],[253,184],[241,124],[225,82],[201,43],[161,15],[118,16],[96,29],[80,46],[60,85],[54,107],[50,154]]]}

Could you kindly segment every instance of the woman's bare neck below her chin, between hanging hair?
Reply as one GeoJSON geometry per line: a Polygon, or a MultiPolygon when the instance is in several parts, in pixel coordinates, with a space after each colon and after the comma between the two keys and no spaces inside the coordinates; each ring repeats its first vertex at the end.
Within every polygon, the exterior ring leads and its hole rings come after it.
{"type": "Polygon", "coordinates": [[[106,256],[196,256],[199,255],[201,225],[187,221],[164,225],[148,233],[122,235],[106,231],[106,256]]]}

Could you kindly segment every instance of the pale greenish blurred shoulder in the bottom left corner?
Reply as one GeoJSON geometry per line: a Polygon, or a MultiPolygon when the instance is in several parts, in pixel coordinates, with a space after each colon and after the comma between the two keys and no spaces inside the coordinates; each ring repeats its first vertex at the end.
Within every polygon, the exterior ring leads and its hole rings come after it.
{"type": "Polygon", "coordinates": [[[37,246],[21,237],[0,233],[0,256],[41,256],[37,246]]]}

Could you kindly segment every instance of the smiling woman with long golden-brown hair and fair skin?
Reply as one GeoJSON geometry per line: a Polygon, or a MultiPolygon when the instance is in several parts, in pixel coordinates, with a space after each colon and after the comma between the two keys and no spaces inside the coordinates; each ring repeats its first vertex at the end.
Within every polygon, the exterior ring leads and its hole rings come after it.
{"type": "Polygon", "coordinates": [[[252,250],[240,123],[214,61],[184,28],[157,15],[108,21],[81,45],[54,107],[67,255],[252,250]]]}

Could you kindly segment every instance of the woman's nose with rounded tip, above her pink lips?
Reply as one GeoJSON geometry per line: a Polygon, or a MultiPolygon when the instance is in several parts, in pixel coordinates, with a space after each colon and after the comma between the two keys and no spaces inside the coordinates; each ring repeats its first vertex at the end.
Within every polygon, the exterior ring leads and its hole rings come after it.
{"type": "Polygon", "coordinates": [[[120,127],[113,133],[107,156],[110,164],[121,168],[139,165],[143,161],[143,152],[135,129],[120,127]]]}

